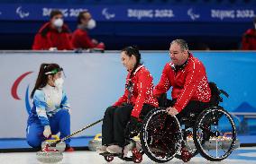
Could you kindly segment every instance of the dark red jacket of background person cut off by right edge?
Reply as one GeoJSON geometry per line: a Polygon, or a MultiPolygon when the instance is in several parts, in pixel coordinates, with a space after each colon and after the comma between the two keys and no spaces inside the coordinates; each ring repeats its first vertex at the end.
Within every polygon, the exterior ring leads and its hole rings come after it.
{"type": "Polygon", "coordinates": [[[249,29],[242,35],[242,50],[256,50],[256,30],[249,29]]]}

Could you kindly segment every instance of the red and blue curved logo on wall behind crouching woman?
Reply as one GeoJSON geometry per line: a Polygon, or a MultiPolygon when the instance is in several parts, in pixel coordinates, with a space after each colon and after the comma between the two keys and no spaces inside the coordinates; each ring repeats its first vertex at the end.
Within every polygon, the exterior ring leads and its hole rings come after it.
{"type": "MultiPolygon", "coordinates": [[[[19,87],[19,84],[23,81],[23,79],[29,75],[30,73],[32,72],[26,72],[26,73],[23,73],[22,75],[20,75],[15,81],[14,81],[14,84],[12,86],[12,90],[11,90],[11,94],[13,96],[14,99],[17,99],[17,100],[22,100],[18,94],[17,94],[17,90],[18,90],[18,87],[19,87]]],[[[26,110],[28,112],[28,114],[30,114],[31,112],[31,105],[30,105],[30,94],[29,94],[29,88],[30,88],[30,84],[28,84],[27,86],[27,89],[26,89],[26,92],[25,92],[25,107],[26,107],[26,110]]]]}

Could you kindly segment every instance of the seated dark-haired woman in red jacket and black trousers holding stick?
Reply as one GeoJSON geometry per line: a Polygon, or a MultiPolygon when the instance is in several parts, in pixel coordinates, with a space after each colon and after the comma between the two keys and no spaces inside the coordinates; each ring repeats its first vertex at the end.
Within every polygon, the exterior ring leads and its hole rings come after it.
{"type": "MultiPolygon", "coordinates": [[[[125,91],[113,106],[106,108],[102,125],[102,147],[98,153],[122,154],[125,146],[124,130],[130,121],[129,129],[136,128],[152,108],[158,107],[153,97],[153,78],[141,64],[141,54],[137,47],[125,47],[121,52],[123,66],[127,69],[125,91]]],[[[126,148],[126,147],[125,147],[126,148]]],[[[127,153],[124,149],[123,154],[127,153]]]]}

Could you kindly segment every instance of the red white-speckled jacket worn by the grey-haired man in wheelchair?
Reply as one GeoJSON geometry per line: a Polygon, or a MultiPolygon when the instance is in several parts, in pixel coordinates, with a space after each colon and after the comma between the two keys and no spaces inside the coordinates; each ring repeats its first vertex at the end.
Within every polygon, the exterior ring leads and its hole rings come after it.
{"type": "Polygon", "coordinates": [[[208,102],[211,98],[206,77],[206,68],[196,57],[188,57],[187,64],[175,71],[174,65],[165,65],[159,84],[154,89],[154,95],[169,91],[172,86],[171,97],[177,99],[174,108],[180,112],[187,106],[189,100],[208,102]]]}

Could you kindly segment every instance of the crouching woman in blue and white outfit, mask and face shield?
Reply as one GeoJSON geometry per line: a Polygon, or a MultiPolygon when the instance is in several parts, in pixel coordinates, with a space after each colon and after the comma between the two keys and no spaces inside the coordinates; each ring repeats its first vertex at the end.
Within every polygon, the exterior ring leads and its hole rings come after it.
{"type": "MultiPolygon", "coordinates": [[[[57,64],[41,64],[32,90],[32,111],[28,118],[26,137],[32,147],[41,147],[41,142],[51,134],[60,133],[60,138],[70,134],[70,108],[62,85],[62,68],[57,64]]],[[[66,151],[74,151],[66,142],[66,151]]]]}

